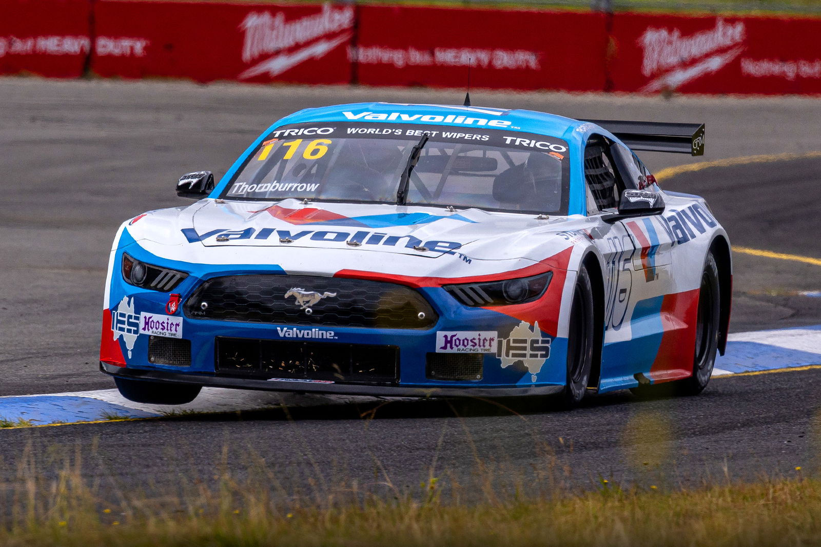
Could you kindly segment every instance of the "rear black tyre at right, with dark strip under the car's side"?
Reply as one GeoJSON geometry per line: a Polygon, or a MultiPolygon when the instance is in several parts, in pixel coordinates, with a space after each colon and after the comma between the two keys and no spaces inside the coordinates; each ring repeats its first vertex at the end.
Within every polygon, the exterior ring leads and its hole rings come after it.
{"type": "Polygon", "coordinates": [[[704,260],[704,271],[699,286],[699,304],[695,319],[695,349],[693,358],[693,375],[690,378],[665,382],[663,384],[645,384],[631,388],[638,398],[659,398],[672,395],[698,395],[713,375],[713,365],[718,351],[718,324],[721,314],[721,294],[718,283],[718,265],[713,253],[707,254],[704,260]]]}

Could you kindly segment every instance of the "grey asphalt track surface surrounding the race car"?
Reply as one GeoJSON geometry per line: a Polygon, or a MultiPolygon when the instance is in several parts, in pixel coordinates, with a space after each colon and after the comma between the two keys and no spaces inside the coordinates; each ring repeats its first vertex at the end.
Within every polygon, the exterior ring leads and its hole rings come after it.
{"type": "MultiPolygon", "coordinates": [[[[182,173],[221,175],[270,122],[299,108],[460,99],[429,90],[0,79],[0,395],[112,387],[97,371],[108,248],[123,219],[186,203],[173,190],[182,173]]],[[[573,117],[707,122],[704,159],[644,154],[654,170],[821,150],[813,99],[473,99],[573,117]]],[[[704,195],[734,246],[819,258],[819,170],[818,157],[719,163],[663,187],[704,195]]],[[[821,324],[821,298],[800,295],[821,290],[817,264],[736,254],[734,281],[734,332],[821,324]]],[[[613,393],[572,412],[533,400],[392,401],[374,419],[361,417],[371,407],[348,405],[0,430],[0,476],[12,476],[25,453],[76,446],[87,475],[160,489],[181,475],[213,476],[223,460],[245,470],[250,454],[289,488],[311,478],[412,487],[431,467],[466,484],[479,462],[507,478],[551,467],[576,485],[599,476],[679,485],[790,475],[821,454],[819,388],[821,372],[803,370],[717,378],[696,398],[613,393]]]]}

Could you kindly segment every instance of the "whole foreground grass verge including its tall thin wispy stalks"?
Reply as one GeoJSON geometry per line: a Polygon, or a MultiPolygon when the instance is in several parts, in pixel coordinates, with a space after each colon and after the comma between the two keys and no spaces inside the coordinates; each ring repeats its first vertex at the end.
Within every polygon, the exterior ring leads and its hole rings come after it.
{"type": "MultiPolygon", "coordinates": [[[[663,436],[666,426],[651,417],[640,425],[663,436]]],[[[317,467],[298,491],[259,456],[229,470],[226,447],[213,476],[180,476],[173,491],[160,485],[153,494],[112,487],[116,471],[104,476],[93,465],[84,474],[79,447],[45,452],[29,445],[14,463],[0,462],[3,547],[821,545],[821,480],[796,468],[756,484],[722,477],[682,490],[663,478],[664,456],[650,447],[637,456],[657,459],[637,462],[646,472],[629,488],[599,478],[579,490],[545,453],[530,470],[477,460],[470,481],[431,466],[404,487],[378,462],[370,483],[332,482],[317,467]]]]}

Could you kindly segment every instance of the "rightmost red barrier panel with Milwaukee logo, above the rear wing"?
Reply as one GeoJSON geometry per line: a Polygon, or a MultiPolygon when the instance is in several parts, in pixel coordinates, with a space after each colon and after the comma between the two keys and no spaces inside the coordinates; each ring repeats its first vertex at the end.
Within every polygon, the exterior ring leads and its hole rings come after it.
{"type": "Polygon", "coordinates": [[[821,20],[617,14],[613,90],[821,93],[821,20]]]}

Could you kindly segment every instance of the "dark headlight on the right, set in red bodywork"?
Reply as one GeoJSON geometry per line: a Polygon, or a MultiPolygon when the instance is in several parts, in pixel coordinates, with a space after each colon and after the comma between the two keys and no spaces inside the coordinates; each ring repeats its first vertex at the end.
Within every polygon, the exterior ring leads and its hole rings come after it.
{"type": "Polygon", "coordinates": [[[530,278],[444,285],[443,289],[465,306],[506,306],[538,299],[548,290],[552,278],[553,272],[548,272],[530,278]]]}

